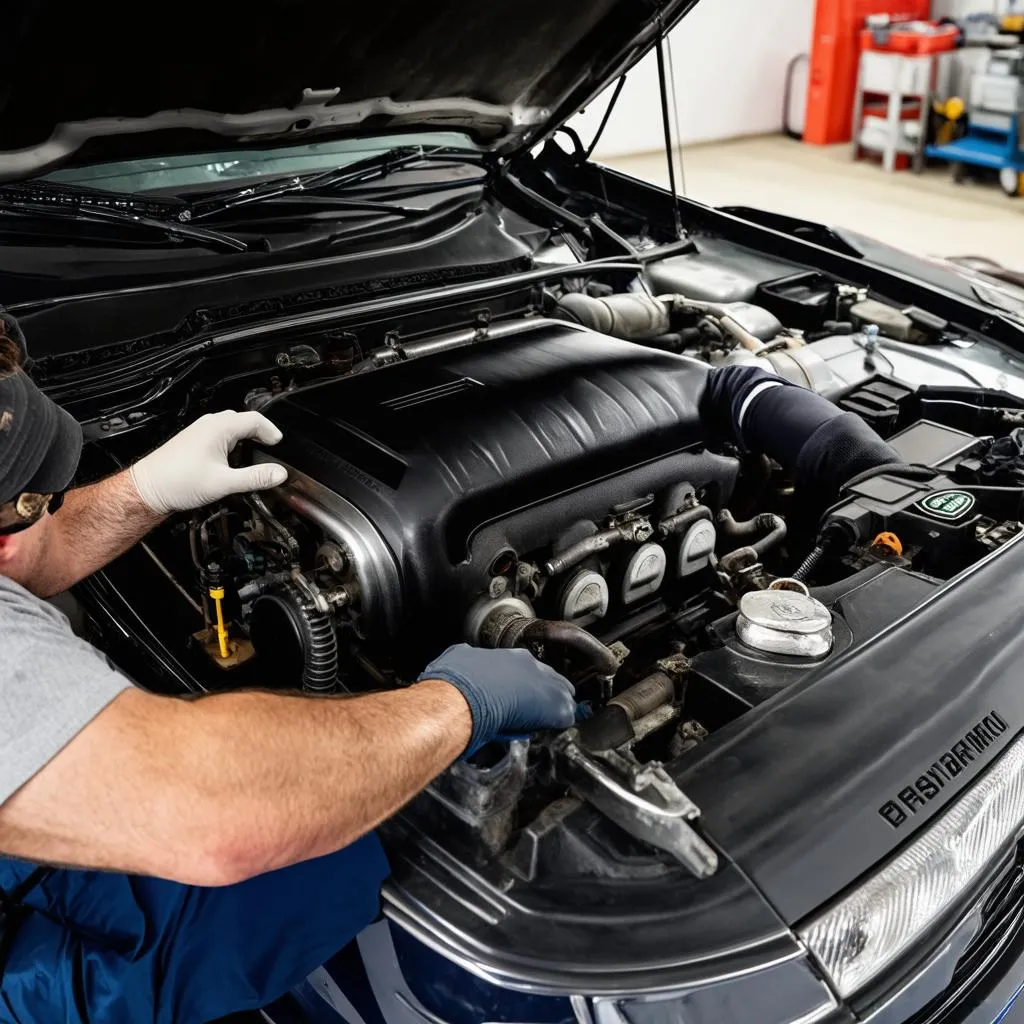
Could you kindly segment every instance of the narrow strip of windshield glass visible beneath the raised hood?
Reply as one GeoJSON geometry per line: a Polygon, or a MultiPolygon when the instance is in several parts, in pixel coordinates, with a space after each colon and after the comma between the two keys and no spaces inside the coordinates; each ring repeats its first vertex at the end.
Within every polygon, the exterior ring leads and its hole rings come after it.
{"type": "Polygon", "coordinates": [[[461,132],[419,132],[374,138],[332,139],[273,150],[224,150],[193,156],[153,157],[111,164],[90,164],[42,175],[40,180],[85,185],[118,193],[178,191],[344,167],[386,153],[395,145],[478,148],[461,132]]]}

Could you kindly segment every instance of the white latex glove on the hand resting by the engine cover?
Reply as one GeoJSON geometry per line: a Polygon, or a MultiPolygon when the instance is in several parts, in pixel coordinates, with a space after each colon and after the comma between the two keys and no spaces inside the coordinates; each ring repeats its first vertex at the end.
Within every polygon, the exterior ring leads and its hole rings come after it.
{"type": "Polygon", "coordinates": [[[187,512],[227,495],[275,487],[288,470],[275,463],[242,469],[227,464],[227,453],[241,440],[276,444],[281,431],[260,413],[209,413],[131,468],[131,478],[154,512],[187,512]]]}

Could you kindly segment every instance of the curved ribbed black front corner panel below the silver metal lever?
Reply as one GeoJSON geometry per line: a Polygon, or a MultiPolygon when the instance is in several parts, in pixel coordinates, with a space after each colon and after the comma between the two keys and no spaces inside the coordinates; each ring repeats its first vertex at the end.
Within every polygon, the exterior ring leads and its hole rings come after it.
{"type": "MultiPolygon", "coordinates": [[[[571,822],[606,844],[607,822],[582,807],[571,822]]],[[[613,826],[612,826],[613,827],[613,826]]],[[[697,882],[635,851],[646,880],[582,870],[549,884],[499,886],[469,874],[438,844],[395,821],[387,915],[457,962],[470,957],[513,988],[623,992],[703,983],[795,958],[800,946],[735,865],[697,882]]],[[[621,840],[611,839],[621,843],[621,840]]]]}

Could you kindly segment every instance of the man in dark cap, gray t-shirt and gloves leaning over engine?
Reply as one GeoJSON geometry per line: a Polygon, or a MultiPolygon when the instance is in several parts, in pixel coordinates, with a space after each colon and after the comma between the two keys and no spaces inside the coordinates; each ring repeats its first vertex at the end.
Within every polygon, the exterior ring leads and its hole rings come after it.
{"type": "Polygon", "coordinates": [[[413,686],[354,697],[137,688],[42,598],[172,512],[284,482],[227,461],[280,431],[204,416],[69,490],[81,428],[0,321],[0,1020],[202,1024],[266,1006],[377,915],[373,828],[459,757],[571,725],[572,687],[526,651],[462,645],[413,686]]]}

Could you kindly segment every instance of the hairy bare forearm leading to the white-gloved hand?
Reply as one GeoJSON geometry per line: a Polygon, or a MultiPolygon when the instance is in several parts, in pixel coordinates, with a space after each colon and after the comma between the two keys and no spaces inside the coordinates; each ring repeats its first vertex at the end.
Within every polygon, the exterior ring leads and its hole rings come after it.
{"type": "Polygon", "coordinates": [[[41,597],[59,594],[123,554],[162,518],[139,497],[127,471],[68,492],[53,516],[34,591],[41,597]]]}

